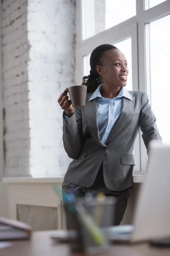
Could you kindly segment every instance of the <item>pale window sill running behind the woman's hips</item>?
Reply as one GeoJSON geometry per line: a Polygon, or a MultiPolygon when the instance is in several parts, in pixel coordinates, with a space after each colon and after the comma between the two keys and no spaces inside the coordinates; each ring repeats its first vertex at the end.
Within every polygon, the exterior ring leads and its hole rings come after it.
{"type": "MultiPolygon", "coordinates": [[[[147,175],[133,175],[134,183],[143,183],[147,175]]],[[[63,177],[4,177],[4,183],[62,183],[63,177]]]]}

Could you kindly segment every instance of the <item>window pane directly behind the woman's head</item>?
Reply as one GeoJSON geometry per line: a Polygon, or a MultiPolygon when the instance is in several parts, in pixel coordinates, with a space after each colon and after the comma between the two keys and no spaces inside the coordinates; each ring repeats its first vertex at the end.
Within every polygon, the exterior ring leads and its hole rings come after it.
{"type": "MultiPolygon", "coordinates": [[[[129,68],[129,75],[127,79],[127,90],[132,90],[132,40],[131,38],[127,38],[122,40],[116,44],[114,44],[118,49],[120,49],[127,58],[127,64],[129,68]]],[[[83,75],[88,76],[90,72],[90,55],[85,55],[83,57],[83,75]]]]}

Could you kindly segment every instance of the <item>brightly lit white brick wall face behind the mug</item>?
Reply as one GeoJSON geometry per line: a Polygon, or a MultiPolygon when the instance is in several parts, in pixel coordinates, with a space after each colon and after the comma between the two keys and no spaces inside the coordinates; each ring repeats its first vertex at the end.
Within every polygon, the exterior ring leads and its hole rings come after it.
{"type": "Polygon", "coordinates": [[[73,85],[75,1],[29,2],[28,38],[30,172],[63,175],[70,160],[63,149],[62,111],[57,99],[73,85]]]}

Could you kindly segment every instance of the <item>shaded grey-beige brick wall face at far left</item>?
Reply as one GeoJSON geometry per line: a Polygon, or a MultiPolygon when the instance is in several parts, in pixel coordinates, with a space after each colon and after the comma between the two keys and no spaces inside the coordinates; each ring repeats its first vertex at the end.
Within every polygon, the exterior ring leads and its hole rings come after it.
{"type": "Polygon", "coordinates": [[[2,3],[2,76],[5,109],[5,171],[7,176],[29,175],[29,44],[27,1],[2,3]]]}

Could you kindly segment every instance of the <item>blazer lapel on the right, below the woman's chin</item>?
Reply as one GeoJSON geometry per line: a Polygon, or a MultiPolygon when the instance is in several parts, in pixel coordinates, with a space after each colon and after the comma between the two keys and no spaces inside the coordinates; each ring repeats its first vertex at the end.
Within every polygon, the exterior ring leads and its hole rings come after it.
{"type": "Polygon", "coordinates": [[[117,135],[117,133],[124,125],[126,125],[126,122],[128,121],[130,114],[132,113],[134,108],[135,97],[132,98],[133,100],[123,97],[122,110],[120,116],[118,117],[118,119],[115,122],[115,125],[112,128],[112,131],[109,134],[106,144],[117,135]]]}

